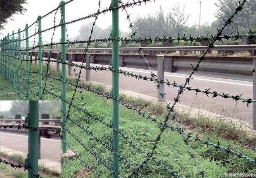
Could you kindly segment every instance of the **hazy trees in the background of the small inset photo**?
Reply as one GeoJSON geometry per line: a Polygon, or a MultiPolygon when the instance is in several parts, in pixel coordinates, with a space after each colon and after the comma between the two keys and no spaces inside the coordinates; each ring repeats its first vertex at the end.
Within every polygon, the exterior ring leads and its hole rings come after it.
{"type": "MultiPolygon", "coordinates": [[[[12,101],[10,110],[0,111],[3,118],[14,118],[15,115],[27,116],[28,101],[12,101]]],[[[60,118],[60,101],[39,101],[39,116],[47,113],[50,118],[60,118]]]]}

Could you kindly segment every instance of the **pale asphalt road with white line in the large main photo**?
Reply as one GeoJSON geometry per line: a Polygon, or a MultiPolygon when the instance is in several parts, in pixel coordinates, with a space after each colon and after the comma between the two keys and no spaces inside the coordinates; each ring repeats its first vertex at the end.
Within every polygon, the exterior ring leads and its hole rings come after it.
{"type": "MultiPolygon", "coordinates": [[[[81,63],[80,63],[81,64],[81,63]]],[[[55,66],[56,63],[51,63],[52,67],[55,66]]],[[[91,64],[96,66],[96,64],[91,64]]],[[[102,66],[97,64],[97,66],[102,66]]],[[[103,65],[105,66],[105,65],[103,65]]],[[[108,67],[108,66],[106,66],[108,67]]],[[[125,68],[120,67],[123,70],[127,70],[129,72],[133,72],[134,74],[142,74],[144,76],[150,77],[149,70],[137,69],[137,68],[125,68]]],[[[61,66],[60,66],[61,70],[61,66]]],[[[73,70],[73,68],[72,68],[73,70]]],[[[76,72],[78,73],[80,68],[76,68],[76,72]]],[[[67,67],[68,73],[68,67],[67,67]]],[[[82,70],[82,77],[86,77],[86,71],[82,70]]],[[[157,74],[156,71],[154,71],[157,74]]],[[[74,75],[74,73],[73,73],[74,75]]],[[[95,72],[91,70],[91,80],[96,82],[101,82],[103,84],[112,85],[112,76],[111,72],[99,71],[95,72]]],[[[169,82],[176,82],[177,84],[184,84],[186,81],[186,76],[184,74],[177,74],[171,72],[165,72],[165,80],[168,79],[169,82]]],[[[230,95],[240,95],[242,94],[243,98],[253,98],[253,82],[241,81],[241,80],[230,80],[230,79],[222,79],[214,77],[204,77],[197,76],[196,73],[192,77],[193,79],[189,82],[188,86],[193,88],[198,87],[199,89],[209,89],[210,91],[215,91],[218,93],[225,93],[230,95]]],[[[130,90],[142,94],[147,94],[149,96],[157,97],[157,89],[156,84],[151,81],[146,80],[137,80],[132,77],[124,76],[120,74],[120,89],[122,90],[130,90]]],[[[166,98],[170,101],[174,101],[174,97],[177,96],[178,88],[175,87],[167,87],[165,86],[166,98]]],[[[212,96],[212,95],[211,95],[212,96]]],[[[225,99],[221,97],[212,98],[211,96],[207,97],[206,94],[198,93],[196,95],[195,91],[185,91],[180,97],[180,103],[185,104],[187,106],[192,106],[194,108],[199,108],[203,110],[208,110],[213,113],[218,113],[223,116],[230,116],[233,118],[238,118],[242,120],[246,120],[252,122],[252,103],[249,104],[249,108],[247,108],[247,103],[243,103],[240,101],[234,101],[230,98],[225,99]]]]}

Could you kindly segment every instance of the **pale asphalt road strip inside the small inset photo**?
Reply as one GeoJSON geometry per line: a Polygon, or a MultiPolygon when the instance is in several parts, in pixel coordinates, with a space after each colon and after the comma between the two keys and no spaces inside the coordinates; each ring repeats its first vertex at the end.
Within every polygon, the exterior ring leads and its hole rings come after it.
{"type": "MultiPolygon", "coordinates": [[[[28,136],[1,130],[0,145],[15,151],[28,152],[28,136]]],[[[41,158],[60,163],[60,140],[41,137],[41,158]]]]}

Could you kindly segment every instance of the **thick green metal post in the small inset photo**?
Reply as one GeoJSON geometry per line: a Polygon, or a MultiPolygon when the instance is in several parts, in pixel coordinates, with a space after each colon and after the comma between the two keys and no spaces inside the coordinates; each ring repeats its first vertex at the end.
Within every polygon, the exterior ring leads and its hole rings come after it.
{"type": "MultiPolygon", "coordinates": [[[[27,124],[30,127],[38,127],[38,101],[28,101],[29,116],[27,124]]],[[[28,130],[28,178],[34,178],[34,175],[38,174],[38,130],[28,130]]]]}

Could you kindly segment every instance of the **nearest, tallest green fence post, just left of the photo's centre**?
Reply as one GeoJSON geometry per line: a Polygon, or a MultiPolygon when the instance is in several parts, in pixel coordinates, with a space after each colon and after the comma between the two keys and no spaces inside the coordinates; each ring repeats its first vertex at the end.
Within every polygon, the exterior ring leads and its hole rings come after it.
{"type": "MultiPolygon", "coordinates": [[[[118,6],[118,0],[112,0],[112,7],[118,6]]],[[[119,10],[112,11],[112,37],[119,38],[119,10]]],[[[113,41],[112,50],[112,68],[113,70],[119,70],[119,42],[113,41]]],[[[112,72],[112,95],[115,98],[119,98],[119,74],[112,72]]],[[[113,118],[112,125],[115,129],[119,129],[119,103],[113,99],[113,118]]],[[[113,149],[119,154],[119,133],[113,130],[113,149]]],[[[112,169],[115,173],[119,174],[119,156],[113,153],[112,169]]],[[[113,178],[117,178],[118,175],[113,175],[113,178]]]]}

